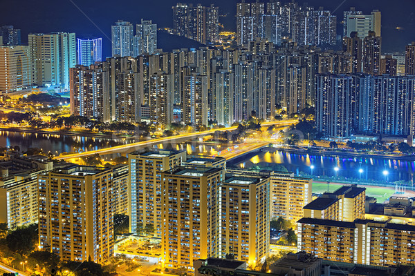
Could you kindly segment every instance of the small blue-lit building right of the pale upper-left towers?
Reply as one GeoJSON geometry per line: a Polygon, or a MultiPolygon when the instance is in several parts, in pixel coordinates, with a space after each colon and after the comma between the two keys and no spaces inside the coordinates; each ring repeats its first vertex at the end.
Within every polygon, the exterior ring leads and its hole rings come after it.
{"type": "Polygon", "coordinates": [[[102,61],[102,38],[77,39],[77,64],[90,66],[102,61]]]}

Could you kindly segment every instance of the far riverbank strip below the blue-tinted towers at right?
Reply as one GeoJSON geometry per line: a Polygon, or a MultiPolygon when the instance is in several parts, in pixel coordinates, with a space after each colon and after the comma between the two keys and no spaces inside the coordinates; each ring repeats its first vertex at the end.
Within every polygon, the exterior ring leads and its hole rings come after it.
{"type": "Polygon", "coordinates": [[[289,148],[277,146],[269,149],[275,151],[295,153],[299,155],[326,155],[326,156],[347,156],[347,157],[361,157],[361,158],[385,158],[385,159],[404,159],[407,161],[415,161],[415,155],[405,155],[396,153],[394,155],[385,155],[382,152],[358,152],[351,149],[331,149],[331,148],[317,148],[309,147],[303,148],[300,146],[291,146],[289,148]]]}

